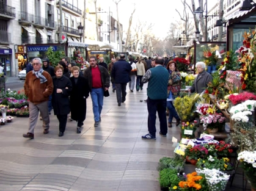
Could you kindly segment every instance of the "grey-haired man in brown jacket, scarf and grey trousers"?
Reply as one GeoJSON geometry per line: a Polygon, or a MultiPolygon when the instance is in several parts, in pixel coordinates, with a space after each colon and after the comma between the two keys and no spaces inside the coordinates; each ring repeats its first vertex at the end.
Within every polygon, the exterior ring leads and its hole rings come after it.
{"type": "Polygon", "coordinates": [[[43,134],[49,132],[48,99],[53,93],[53,79],[42,68],[42,60],[35,58],[32,61],[33,70],[26,75],[24,91],[29,98],[29,131],[23,134],[25,138],[34,138],[34,129],[37,124],[38,112],[43,118],[43,134]]]}

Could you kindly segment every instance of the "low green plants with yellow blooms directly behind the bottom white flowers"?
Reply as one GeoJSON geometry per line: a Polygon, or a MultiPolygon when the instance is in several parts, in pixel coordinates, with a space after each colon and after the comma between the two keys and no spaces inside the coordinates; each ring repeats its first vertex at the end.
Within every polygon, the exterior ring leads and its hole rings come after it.
{"type": "Polygon", "coordinates": [[[224,157],[224,158],[218,159],[217,157],[211,156],[211,155],[208,156],[207,159],[198,159],[196,165],[200,169],[215,168],[221,171],[230,171],[234,169],[233,165],[229,163],[228,158],[224,157]]]}

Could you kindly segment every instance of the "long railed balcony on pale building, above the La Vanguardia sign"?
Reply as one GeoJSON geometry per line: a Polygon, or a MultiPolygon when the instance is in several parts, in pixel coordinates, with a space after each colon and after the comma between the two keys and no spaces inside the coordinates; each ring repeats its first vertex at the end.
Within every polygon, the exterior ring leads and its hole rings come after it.
{"type": "Polygon", "coordinates": [[[34,26],[41,26],[55,29],[56,23],[41,16],[35,16],[31,13],[20,12],[19,23],[24,25],[33,24],[34,26]]]}

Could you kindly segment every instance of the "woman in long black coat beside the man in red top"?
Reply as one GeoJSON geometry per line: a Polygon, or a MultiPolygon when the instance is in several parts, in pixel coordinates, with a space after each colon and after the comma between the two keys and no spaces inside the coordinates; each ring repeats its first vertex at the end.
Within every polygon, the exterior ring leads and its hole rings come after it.
{"type": "Polygon", "coordinates": [[[71,119],[78,122],[77,133],[81,133],[81,127],[86,119],[86,98],[89,96],[89,83],[84,76],[79,75],[79,67],[72,67],[73,76],[70,77],[72,91],[70,94],[71,119]]]}

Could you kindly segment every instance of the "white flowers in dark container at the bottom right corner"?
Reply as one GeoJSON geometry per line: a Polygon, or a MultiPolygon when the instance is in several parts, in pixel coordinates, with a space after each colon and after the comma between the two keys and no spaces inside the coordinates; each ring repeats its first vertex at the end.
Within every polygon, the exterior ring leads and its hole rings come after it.
{"type": "Polygon", "coordinates": [[[238,158],[243,168],[246,178],[251,182],[251,186],[256,189],[256,151],[243,151],[238,154],[238,158]]]}

